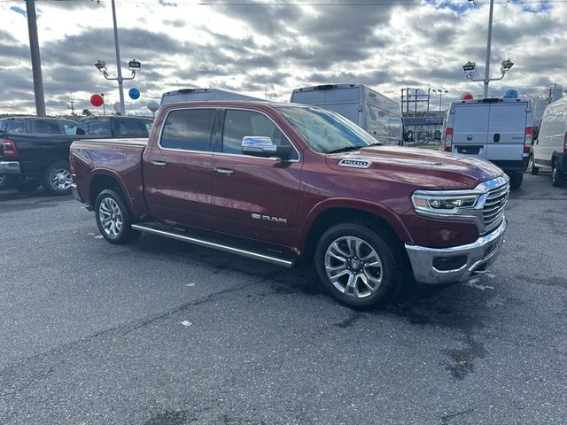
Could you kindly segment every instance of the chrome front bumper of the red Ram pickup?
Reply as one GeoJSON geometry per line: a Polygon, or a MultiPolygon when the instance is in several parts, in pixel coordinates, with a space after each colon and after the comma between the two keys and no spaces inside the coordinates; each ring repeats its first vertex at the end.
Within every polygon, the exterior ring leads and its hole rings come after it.
{"type": "Polygon", "coordinates": [[[484,274],[486,267],[493,263],[501,251],[507,227],[508,222],[504,219],[499,228],[479,237],[476,242],[452,248],[426,248],[406,243],[416,282],[466,282],[478,274],[484,274]],[[456,268],[447,267],[451,262],[456,268]]]}

